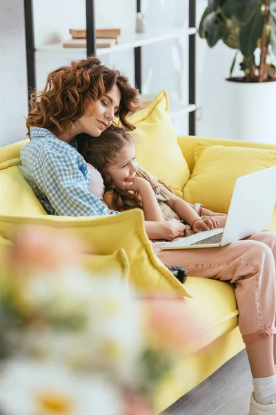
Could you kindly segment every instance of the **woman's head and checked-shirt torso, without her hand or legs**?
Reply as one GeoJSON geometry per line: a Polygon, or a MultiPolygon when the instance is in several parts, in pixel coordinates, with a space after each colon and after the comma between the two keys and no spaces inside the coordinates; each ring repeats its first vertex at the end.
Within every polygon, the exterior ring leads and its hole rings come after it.
{"type": "Polygon", "coordinates": [[[106,214],[106,207],[88,192],[86,163],[68,143],[81,132],[99,136],[115,114],[126,129],[134,129],[127,116],[137,102],[137,90],[128,79],[95,57],[48,75],[46,87],[31,101],[26,122],[31,141],[21,150],[20,167],[48,213],[106,214]]]}

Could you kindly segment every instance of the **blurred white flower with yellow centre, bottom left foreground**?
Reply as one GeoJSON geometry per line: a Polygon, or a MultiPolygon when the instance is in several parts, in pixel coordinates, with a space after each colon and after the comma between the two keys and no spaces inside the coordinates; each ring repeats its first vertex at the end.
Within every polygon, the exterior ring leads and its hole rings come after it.
{"type": "Polygon", "coordinates": [[[10,360],[1,367],[0,408],[7,415],[120,415],[119,392],[99,376],[58,365],[10,360]]]}

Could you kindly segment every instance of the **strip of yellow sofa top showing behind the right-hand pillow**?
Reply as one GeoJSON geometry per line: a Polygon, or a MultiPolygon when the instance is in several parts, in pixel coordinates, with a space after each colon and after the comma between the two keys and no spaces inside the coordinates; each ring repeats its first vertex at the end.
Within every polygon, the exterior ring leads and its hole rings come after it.
{"type": "Polygon", "coordinates": [[[276,149],[276,145],[265,144],[264,142],[250,142],[242,140],[228,140],[226,138],[208,138],[197,136],[178,136],[177,142],[181,148],[182,154],[188,163],[190,172],[193,172],[195,166],[194,151],[199,141],[207,142],[211,145],[224,145],[229,147],[250,147],[257,149],[276,149]]]}

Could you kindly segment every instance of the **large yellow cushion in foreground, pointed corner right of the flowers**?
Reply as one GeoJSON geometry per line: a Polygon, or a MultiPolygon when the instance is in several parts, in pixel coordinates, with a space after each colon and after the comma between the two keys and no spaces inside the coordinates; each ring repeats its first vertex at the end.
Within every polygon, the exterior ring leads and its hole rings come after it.
{"type": "Polygon", "coordinates": [[[12,240],[22,226],[46,225],[81,237],[94,255],[111,255],[124,249],[130,264],[130,282],[140,292],[164,291],[166,294],[190,297],[184,286],[154,255],[144,230],[141,210],[117,215],[86,217],[0,216],[0,234],[12,240]]]}

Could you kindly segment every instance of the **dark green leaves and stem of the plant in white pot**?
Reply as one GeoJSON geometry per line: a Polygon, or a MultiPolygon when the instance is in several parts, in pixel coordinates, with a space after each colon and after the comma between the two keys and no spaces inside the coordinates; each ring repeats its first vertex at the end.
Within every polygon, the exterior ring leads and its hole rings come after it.
{"type": "MultiPolygon", "coordinates": [[[[270,50],[276,55],[276,0],[208,0],[201,17],[199,36],[213,48],[219,40],[240,50],[240,64],[248,82],[276,80],[275,67],[268,64],[270,50]],[[261,48],[259,65],[255,51],[261,48]]],[[[237,54],[230,68],[232,76],[237,54]]]]}

